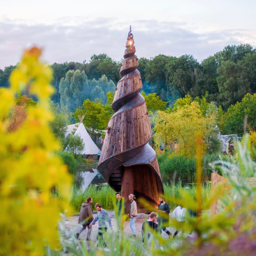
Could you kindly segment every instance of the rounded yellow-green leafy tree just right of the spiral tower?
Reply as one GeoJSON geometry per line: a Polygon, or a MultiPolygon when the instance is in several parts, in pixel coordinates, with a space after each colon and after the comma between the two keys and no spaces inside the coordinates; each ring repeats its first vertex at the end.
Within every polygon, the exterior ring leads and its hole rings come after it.
{"type": "MultiPolygon", "coordinates": [[[[188,98],[189,99],[189,98],[188,98]]],[[[196,101],[176,108],[171,113],[158,111],[155,118],[155,142],[160,145],[174,148],[177,143],[176,153],[194,156],[196,153],[196,134],[203,134],[203,154],[207,148],[206,139],[211,136],[216,126],[216,116],[202,114],[199,103],[196,101]]]]}

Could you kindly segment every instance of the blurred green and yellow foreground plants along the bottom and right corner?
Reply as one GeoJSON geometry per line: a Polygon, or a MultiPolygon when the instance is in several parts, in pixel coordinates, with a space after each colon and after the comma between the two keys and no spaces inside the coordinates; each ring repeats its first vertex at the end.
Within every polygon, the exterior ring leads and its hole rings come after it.
{"type": "MultiPolygon", "coordinates": [[[[213,168],[218,166],[225,183],[219,183],[209,198],[205,198],[201,186],[202,174],[202,136],[196,138],[196,195],[191,195],[186,188],[180,188],[181,198],[165,195],[165,201],[175,205],[182,205],[197,213],[196,217],[187,214],[187,221],[182,227],[182,235],[175,239],[166,239],[160,233],[152,233],[146,244],[142,244],[137,236],[134,240],[124,233],[124,216],[117,217],[118,228],[108,230],[105,234],[106,248],[94,245],[91,251],[86,249],[83,240],[63,239],[63,246],[67,246],[73,255],[192,255],[192,256],[240,256],[255,255],[256,251],[256,188],[249,177],[255,177],[256,163],[252,161],[250,151],[246,149],[248,135],[244,145],[238,143],[237,153],[231,161],[216,161],[213,168]],[[210,215],[211,204],[219,201],[219,212],[210,215]],[[191,236],[188,234],[193,230],[191,236]]],[[[146,202],[144,202],[146,204],[146,202]]],[[[147,206],[150,207],[150,206],[147,206]]],[[[152,211],[156,209],[152,208],[152,211]]],[[[188,211],[187,211],[188,212],[188,211]]],[[[176,226],[176,220],[171,218],[170,226],[176,226]]],[[[70,234],[70,233],[69,233],[70,234]]],[[[67,234],[66,234],[67,235],[67,234]]]]}

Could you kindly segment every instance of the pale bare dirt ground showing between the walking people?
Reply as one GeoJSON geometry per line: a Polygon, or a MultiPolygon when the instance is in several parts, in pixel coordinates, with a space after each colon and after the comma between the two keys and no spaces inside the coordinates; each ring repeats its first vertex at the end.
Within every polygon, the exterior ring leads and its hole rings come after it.
{"type": "MultiPolygon", "coordinates": [[[[108,214],[111,218],[111,223],[113,228],[116,227],[116,219],[115,219],[115,213],[114,211],[108,211],[108,214]]],[[[78,230],[82,227],[81,225],[79,225],[77,223],[78,221],[78,216],[79,215],[73,215],[70,218],[65,218],[63,219],[63,223],[65,225],[65,227],[70,231],[72,230],[73,233],[75,234],[76,232],[78,232],[78,230]]],[[[96,216],[96,212],[93,212],[93,217],[96,216]]],[[[172,215],[170,214],[170,217],[172,218],[172,215]]],[[[148,219],[148,215],[144,214],[144,213],[139,213],[138,217],[135,220],[135,228],[136,228],[136,236],[141,237],[141,227],[142,227],[142,223],[144,222],[144,220],[148,219]]],[[[167,228],[172,234],[175,232],[175,228],[172,227],[168,227],[167,228]]],[[[96,236],[98,233],[98,222],[96,222],[95,225],[92,226],[92,233],[91,233],[91,241],[96,241],[96,236]]],[[[129,219],[127,221],[125,221],[124,224],[124,233],[127,236],[131,236],[132,235],[132,231],[131,228],[129,226],[129,219]]],[[[87,229],[84,230],[81,235],[79,236],[79,239],[86,239],[86,235],[87,235],[87,229]]],[[[168,235],[162,230],[162,236],[168,238],[168,235]]]]}

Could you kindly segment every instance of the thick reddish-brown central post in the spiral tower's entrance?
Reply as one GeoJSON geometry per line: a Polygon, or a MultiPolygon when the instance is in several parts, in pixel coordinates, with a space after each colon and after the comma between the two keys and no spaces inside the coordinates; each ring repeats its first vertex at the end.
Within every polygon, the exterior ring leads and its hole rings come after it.
{"type": "Polygon", "coordinates": [[[124,173],[122,175],[122,197],[126,206],[126,212],[130,211],[130,201],[128,199],[129,194],[134,194],[134,170],[133,167],[124,167],[124,173]]]}

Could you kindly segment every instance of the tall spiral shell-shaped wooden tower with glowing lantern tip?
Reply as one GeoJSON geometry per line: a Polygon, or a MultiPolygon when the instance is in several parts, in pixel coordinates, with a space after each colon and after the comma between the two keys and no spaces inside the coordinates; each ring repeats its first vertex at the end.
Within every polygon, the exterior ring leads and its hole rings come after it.
{"type": "MultiPolygon", "coordinates": [[[[152,131],[145,99],[139,93],[142,83],[136,69],[139,64],[131,27],[125,47],[122,78],[112,103],[115,114],[108,122],[97,169],[114,190],[121,191],[126,209],[129,209],[129,194],[156,207],[164,188],[156,152],[148,144],[152,131]]],[[[138,212],[147,212],[141,204],[138,208],[138,212]]]]}

